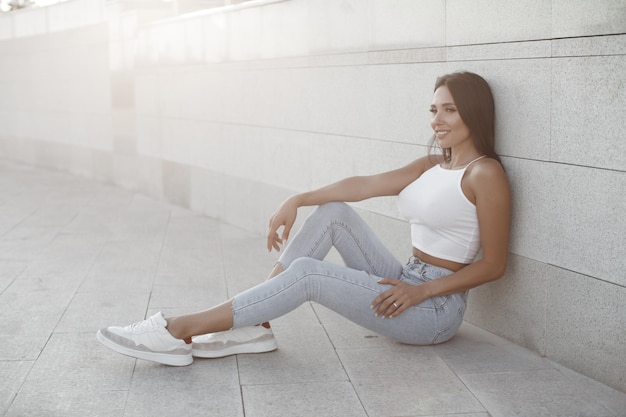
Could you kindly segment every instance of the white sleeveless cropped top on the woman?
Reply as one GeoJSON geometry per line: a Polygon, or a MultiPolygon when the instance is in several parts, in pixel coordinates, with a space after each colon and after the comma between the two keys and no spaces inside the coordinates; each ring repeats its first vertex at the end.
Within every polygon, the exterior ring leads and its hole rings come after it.
{"type": "Polygon", "coordinates": [[[435,165],[398,196],[400,215],[411,224],[413,247],[441,259],[468,264],[480,250],[476,206],[461,189],[462,169],[435,165]]]}

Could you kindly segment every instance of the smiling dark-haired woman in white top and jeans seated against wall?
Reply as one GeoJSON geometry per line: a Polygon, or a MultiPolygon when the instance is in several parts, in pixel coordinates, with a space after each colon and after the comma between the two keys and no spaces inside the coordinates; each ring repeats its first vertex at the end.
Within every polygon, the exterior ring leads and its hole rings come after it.
{"type": "Polygon", "coordinates": [[[276,348],[267,321],[305,301],[399,342],[449,340],[463,320],[467,291],[504,274],[509,186],[494,152],[493,97],[483,78],[440,77],[430,112],[442,155],[282,203],[270,219],[270,251],[286,243],[298,207],[319,207],[286,246],[271,279],[205,311],[169,319],[158,313],[102,329],[98,340],[125,355],[177,366],[193,356],[265,352],[276,348]],[[411,226],[413,256],[404,267],[343,203],[392,195],[411,226]],[[345,266],[322,261],[333,246],[345,266]]]}

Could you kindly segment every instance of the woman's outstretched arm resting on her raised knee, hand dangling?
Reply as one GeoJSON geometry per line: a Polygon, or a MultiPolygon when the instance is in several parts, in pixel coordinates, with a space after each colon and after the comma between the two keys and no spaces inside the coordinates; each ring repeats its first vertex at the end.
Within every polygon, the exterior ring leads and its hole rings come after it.
{"type": "Polygon", "coordinates": [[[331,201],[355,202],[372,197],[398,195],[402,189],[419,177],[422,172],[438,163],[435,157],[423,157],[410,164],[376,175],[345,178],[317,190],[296,194],[285,200],[270,218],[267,233],[267,250],[280,251],[287,241],[296,221],[298,207],[319,206],[331,201]],[[281,235],[278,229],[283,226],[281,235]]]}

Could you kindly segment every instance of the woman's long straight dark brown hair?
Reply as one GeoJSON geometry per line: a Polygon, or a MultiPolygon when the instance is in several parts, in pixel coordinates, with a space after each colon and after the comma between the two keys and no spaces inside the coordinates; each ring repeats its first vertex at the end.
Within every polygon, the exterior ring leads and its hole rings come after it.
{"type": "MultiPolygon", "coordinates": [[[[495,105],[487,81],[473,72],[460,71],[437,78],[434,91],[443,85],[450,90],[459,115],[470,130],[476,150],[501,163],[494,149],[495,105]]],[[[433,135],[431,146],[435,143],[433,135]]],[[[450,162],[452,150],[445,148],[442,151],[444,160],[450,162]]]]}

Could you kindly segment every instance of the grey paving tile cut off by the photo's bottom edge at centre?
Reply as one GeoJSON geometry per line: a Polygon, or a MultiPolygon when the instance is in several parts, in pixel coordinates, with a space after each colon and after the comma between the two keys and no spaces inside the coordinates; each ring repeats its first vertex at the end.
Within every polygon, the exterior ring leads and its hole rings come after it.
{"type": "Polygon", "coordinates": [[[246,417],[366,417],[349,382],[243,387],[246,417]]]}

